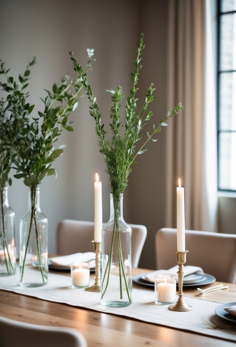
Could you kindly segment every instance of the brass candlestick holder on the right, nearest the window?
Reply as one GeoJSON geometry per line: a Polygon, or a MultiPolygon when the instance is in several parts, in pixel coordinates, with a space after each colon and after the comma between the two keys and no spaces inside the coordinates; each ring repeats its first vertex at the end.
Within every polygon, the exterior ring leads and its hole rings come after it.
{"type": "Polygon", "coordinates": [[[172,311],[191,311],[192,306],[187,305],[184,300],[183,300],[183,264],[186,263],[186,253],[185,252],[178,252],[175,251],[176,253],[176,262],[179,264],[179,271],[178,273],[178,281],[179,281],[179,298],[177,302],[174,305],[169,306],[168,308],[172,311]]]}

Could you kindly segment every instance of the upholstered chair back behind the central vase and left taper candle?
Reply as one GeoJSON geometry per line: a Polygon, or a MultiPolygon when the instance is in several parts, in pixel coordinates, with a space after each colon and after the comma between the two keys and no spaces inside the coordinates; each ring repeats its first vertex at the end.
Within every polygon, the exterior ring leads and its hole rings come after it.
{"type": "MultiPolygon", "coordinates": [[[[138,224],[129,224],[129,226],[132,229],[132,266],[137,268],[146,240],[147,228],[138,224]]],[[[57,253],[93,252],[93,235],[94,222],[64,219],[58,224],[56,230],[57,253]]]]}

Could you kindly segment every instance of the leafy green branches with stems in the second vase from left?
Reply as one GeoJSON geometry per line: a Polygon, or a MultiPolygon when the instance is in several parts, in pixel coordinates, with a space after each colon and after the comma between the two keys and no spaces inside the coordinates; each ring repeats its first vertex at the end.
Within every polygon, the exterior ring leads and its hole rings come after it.
{"type": "MultiPolygon", "coordinates": [[[[84,68],[84,76],[92,71],[93,50],[87,49],[88,60],[84,68]]],[[[1,62],[1,61],[0,61],[1,62]]],[[[0,102],[0,141],[4,141],[12,153],[12,167],[17,173],[13,175],[17,179],[24,179],[27,187],[37,189],[45,176],[57,175],[52,168],[52,163],[60,156],[65,144],[55,148],[55,143],[65,129],[73,131],[69,115],[78,107],[78,100],[82,96],[80,91],[83,87],[79,73],[70,79],[70,76],[61,78],[60,83],[54,83],[52,90],[46,91],[46,97],[40,98],[44,109],[34,116],[34,105],[27,101],[29,92],[30,69],[36,63],[34,57],[26,67],[24,74],[19,74],[18,81],[9,76],[9,69],[5,68],[4,62],[0,64],[0,87],[6,93],[6,98],[0,102]],[[4,77],[4,81],[1,78],[4,77]]],[[[35,220],[35,195],[31,194],[32,218],[29,225],[30,235],[35,220]]],[[[37,239],[37,238],[36,238],[37,239]]],[[[27,243],[26,243],[27,256],[27,243]]],[[[37,249],[40,250],[37,243],[37,249]]],[[[40,252],[38,252],[40,262],[40,252]]],[[[22,262],[21,280],[24,276],[25,260],[22,262]]],[[[40,264],[39,264],[40,265],[40,264]]],[[[42,281],[45,276],[42,272],[42,281]]]]}

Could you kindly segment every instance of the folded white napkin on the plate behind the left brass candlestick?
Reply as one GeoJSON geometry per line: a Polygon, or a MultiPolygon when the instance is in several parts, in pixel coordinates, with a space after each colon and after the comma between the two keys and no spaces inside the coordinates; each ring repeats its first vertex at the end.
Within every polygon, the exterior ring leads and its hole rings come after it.
{"type": "Polygon", "coordinates": [[[50,258],[51,264],[54,266],[61,266],[69,268],[72,263],[89,263],[90,267],[95,265],[96,253],[85,252],[85,253],[74,253],[69,255],[62,255],[59,257],[50,258]]]}

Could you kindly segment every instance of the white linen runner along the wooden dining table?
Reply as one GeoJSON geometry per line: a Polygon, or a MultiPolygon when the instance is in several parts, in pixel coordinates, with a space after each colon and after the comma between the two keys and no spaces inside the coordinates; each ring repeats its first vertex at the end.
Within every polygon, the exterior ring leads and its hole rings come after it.
{"type": "MultiPolygon", "coordinates": [[[[34,276],[36,270],[32,269],[31,271],[32,276],[34,276]]],[[[193,310],[175,312],[169,310],[168,305],[156,305],[154,303],[154,290],[134,286],[132,291],[133,302],[130,306],[110,308],[99,304],[100,293],[85,291],[83,288],[72,289],[70,276],[48,273],[47,285],[36,288],[20,287],[19,278],[19,267],[17,267],[16,275],[0,277],[0,289],[236,342],[236,329],[211,330],[201,320],[201,316],[205,315],[208,319],[214,317],[214,322],[219,325],[228,324],[227,321],[215,315],[216,307],[220,306],[218,302],[184,296],[184,301],[191,305],[193,310]]],[[[90,285],[93,282],[90,281],[90,285]]]]}

